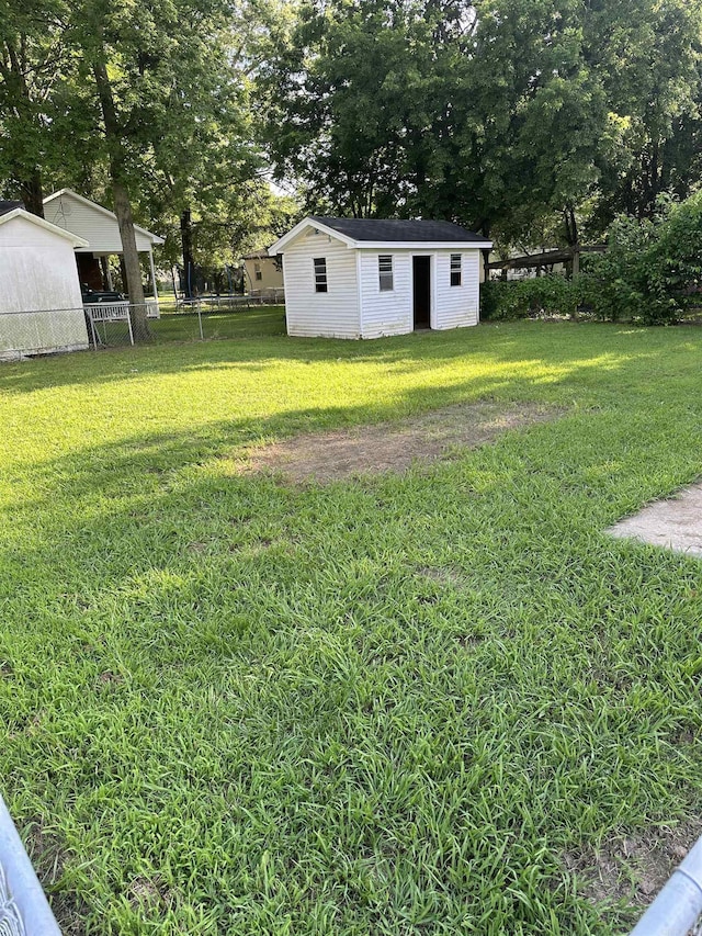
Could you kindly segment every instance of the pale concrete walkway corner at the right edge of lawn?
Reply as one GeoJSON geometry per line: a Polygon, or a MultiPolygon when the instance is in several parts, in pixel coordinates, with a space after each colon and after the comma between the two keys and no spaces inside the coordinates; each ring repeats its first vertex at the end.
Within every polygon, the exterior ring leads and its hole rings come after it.
{"type": "Polygon", "coordinates": [[[702,557],[702,483],[649,504],[607,532],[702,557]]]}

